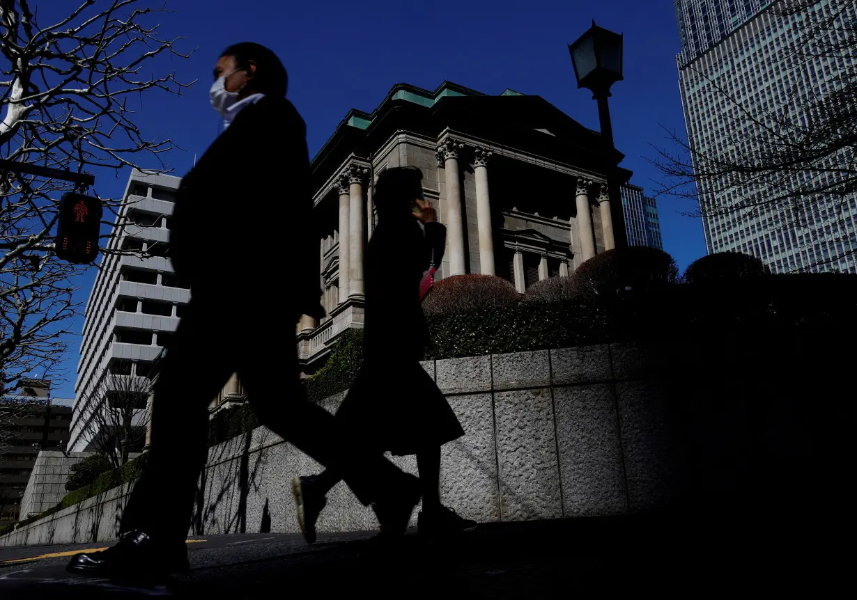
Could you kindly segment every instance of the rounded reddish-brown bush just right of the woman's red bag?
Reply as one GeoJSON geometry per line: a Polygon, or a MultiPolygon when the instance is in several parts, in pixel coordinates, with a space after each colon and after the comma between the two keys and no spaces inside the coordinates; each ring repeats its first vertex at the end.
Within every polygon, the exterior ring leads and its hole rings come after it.
{"type": "Polygon", "coordinates": [[[520,297],[518,290],[501,277],[457,275],[434,282],[423,299],[423,312],[439,315],[511,306],[520,297]]]}

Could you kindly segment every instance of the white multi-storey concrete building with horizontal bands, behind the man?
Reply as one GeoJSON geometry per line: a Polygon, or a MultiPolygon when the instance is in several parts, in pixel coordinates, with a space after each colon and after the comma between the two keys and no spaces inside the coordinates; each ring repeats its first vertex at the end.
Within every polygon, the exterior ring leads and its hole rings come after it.
{"type": "Polygon", "coordinates": [[[146,376],[190,300],[190,289],[177,281],[167,258],[170,217],[180,181],[136,169],[129,177],[115,235],[102,255],[87,301],[71,451],[90,449],[96,432],[87,423],[93,422],[95,411],[103,410],[101,382],[109,374],[146,376]],[[143,256],[112,254],[110,250],[137,250],[143,256]]]}

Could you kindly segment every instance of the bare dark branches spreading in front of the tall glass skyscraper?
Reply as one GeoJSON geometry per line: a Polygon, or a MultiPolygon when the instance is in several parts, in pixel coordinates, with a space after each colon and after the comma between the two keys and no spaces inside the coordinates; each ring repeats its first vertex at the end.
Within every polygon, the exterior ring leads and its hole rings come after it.
{"type": "Polygon", "coordinates": [[[714,68],[700,67],[698,75],[714,90],[710,127],[728,143],[703,148],[668,132],[672,149],[659,150],[652,160],[665,175],[657,193],[698,200],[698,210],[687,214],[704,219],[743,222],[766,215],[771,229],[803,230],[830,248],[830,258],[804,268],[824,270],[857,252],[854,231],[845,223],[857,191],[855,4],[780,0],[769,11],[772,23],[797,23],[788,27],[791,42],[771,48],[770,57],[759,52],[758,64],[749,65],[787,75],[771,78],[764,90],[772,101],[729,85],[725,72],[741,68],[731,57],[714,68]],[[803,85],[818,80],[812,71],[819,65],[826,83],[803,85]],[[825,223],[830,215],[832,227],[825,223]]]}

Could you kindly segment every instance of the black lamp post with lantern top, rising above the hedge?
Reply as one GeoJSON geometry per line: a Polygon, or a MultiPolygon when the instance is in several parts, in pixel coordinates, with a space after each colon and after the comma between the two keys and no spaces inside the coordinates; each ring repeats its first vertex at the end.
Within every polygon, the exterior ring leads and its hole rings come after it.
{"type": "Polygon", "coordinates": [[[585,87],[592,92],[592,99],[598,102],[598,119],[601,123],[601,136],[604,153],[608,161],[608,185],[612,201],[610,215],[614,223],[613,234],[616,247],[627,247],[625,231],[625,215],[622,211],[622,201],[619,186],[616,185],[615,168],[621,160],[613,142],[613,126],[610,123],[610,107],[608,100],[611,96],[610,87],[622,76],[622,35],[603,27],[598,27],[592,21],[592,27],[580,36],[577,41],[568,45],[572,55],[574,76],[578,80],[578,88],[585,87]],[[615,160],[615,163],[614,163],[615,160]]]}

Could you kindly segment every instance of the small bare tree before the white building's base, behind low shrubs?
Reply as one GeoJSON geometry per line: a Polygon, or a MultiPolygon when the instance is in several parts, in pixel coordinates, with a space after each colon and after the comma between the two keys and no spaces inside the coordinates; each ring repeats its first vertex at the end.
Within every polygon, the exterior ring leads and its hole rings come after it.
{"type": "Polygon", "coordinates": [[[129,452],[142,449],[149,419],[147,401],[152,382],[147,377],[111,373],[105,375],[84,405],[87,411],[83,436],[92,448],[106,454],[113,466],[128,462],[129,452]]]}

